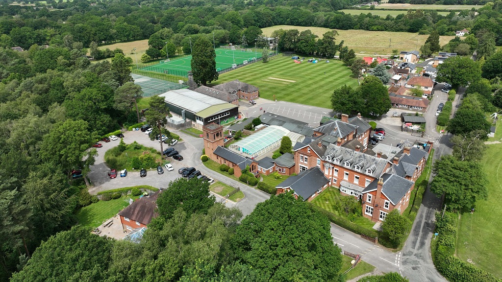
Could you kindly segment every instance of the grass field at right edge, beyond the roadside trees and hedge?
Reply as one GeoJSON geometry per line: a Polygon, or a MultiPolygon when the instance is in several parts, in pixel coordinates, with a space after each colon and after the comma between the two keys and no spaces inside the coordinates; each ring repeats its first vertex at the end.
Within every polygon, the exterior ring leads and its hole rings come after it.
{"type": "Polygon", "coordinates": [[[456,255],[484,269],[498,278],[502,278],[502,147],[487,145],[481,160],[484,172],[488,176],[486,188],[488,200],[476,202],[473,214],[461,215],[458,226],[456,255]]]}

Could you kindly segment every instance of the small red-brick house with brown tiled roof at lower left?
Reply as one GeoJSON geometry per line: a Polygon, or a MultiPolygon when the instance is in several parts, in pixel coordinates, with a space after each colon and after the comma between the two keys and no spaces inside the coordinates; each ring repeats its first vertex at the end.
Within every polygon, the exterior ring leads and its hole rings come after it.
{"type": "Polygon", "coordinates": [[[157,208],[157,198],[161,190],[153,193],[152,195],[141,197],[118,212],[120,222],[125,232],[133,231],[136,228],[147,227],[156,215],[155,209],[157,208]]]}

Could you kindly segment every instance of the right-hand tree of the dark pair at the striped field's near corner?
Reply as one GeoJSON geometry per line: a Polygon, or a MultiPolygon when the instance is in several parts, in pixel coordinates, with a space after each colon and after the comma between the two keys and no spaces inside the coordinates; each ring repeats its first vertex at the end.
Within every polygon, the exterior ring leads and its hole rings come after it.
{"type": "Polygon", "coordinates": [[[391,99],[387,87],[375,76],[369,75],[364,78],[359,86],[361,97],[365,101],[365,107],[361,113],[365,116],[379,116],[391,109],[391,99]]]}

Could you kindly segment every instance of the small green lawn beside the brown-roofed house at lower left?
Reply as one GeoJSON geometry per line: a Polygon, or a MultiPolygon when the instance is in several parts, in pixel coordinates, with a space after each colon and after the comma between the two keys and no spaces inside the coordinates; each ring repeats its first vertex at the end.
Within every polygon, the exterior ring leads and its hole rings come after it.
{"type": "Polygon", "coordinates": [[[78,223],[83,226],[96,228],[105,220],[117,214],[123,208],[129,206],[129,199],[138,199],[140,196],[127,196],[120,199],[99,201],[77,210],[78,223]]]}

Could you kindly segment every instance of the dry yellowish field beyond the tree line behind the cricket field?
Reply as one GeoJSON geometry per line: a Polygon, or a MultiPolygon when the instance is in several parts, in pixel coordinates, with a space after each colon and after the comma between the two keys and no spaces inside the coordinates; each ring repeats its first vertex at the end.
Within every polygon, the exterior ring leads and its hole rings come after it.
{"type": "MultiPolygon", "coordinates": [[[[374,10],[373,10],[374,11],[374,10]]],[[[264,28],[263,34],[272,35],[272,32],[278,29],[290,30],[297,29],[302,32],[310,30],[313,34],[322,38],[322,35],[331,29],[316,28],[316,27],[298,27],[298,26],[273,26],[264,28]]],[[[336,42],[344,41],[344,45],[349,49],[354,49],[355,53],[373,55],[391,55],[392,50],[413,51],[419,50],[420,46],[424,45],[425,40],[429,35],[419,35],[418,33],[409,32],[390,32],[390,31],[365,31],[365,30],[336,30],[336,42]],[[391,47],[389,47],[389,40],[391,47]]],[[[442,46],[452,40],[454,36],[440,36],[439,44],[442,46]]]]}

